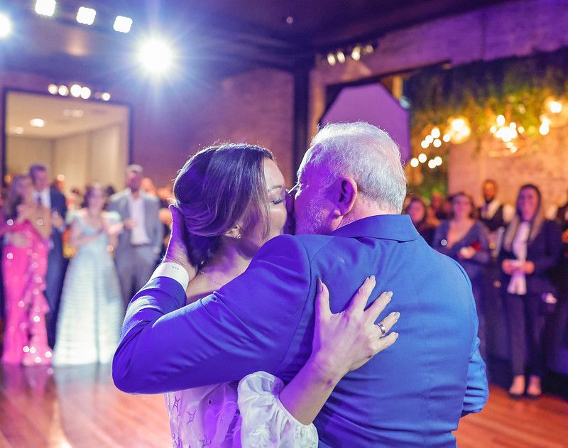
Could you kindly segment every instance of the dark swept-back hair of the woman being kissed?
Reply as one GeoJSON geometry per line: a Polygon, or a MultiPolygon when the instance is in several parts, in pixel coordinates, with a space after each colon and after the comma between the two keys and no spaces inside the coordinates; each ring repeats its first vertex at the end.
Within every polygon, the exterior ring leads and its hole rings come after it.
{"type": "Polygon", "coordinates": [[[271,151],[246,143],[209,146],[187,160],[173,184],[175,205],[185,221],[190,261],[209,262],[222,236],[239,221],[248,231],[259,219],[268,234],[268,197],[264,159],[271,151]]]}

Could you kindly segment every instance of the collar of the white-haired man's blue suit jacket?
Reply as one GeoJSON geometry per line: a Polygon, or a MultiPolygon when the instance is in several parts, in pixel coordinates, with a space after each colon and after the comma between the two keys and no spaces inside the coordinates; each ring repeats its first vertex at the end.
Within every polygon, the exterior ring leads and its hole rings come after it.
{"type": "Polygon", "coordinates": [[[380,214],[339,227],[332,233],[332,236],[346,236],[348,238],[366,236],[394,241],[414,241],[420,235],[408,215],[380,214]]]}

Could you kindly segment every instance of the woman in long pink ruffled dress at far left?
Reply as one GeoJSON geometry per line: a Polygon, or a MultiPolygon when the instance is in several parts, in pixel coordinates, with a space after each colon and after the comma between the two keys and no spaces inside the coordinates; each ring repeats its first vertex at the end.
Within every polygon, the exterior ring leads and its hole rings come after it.
{"type": "Polygon", "coordinates": [[[30,177],[13,178],[6,200],[6,234],[2,250],[6,330],[2,362],[50,364],[51,350],[45,329],[49,311],[45,290],[48,265],[50,211],[33,200],[30,177]]]}

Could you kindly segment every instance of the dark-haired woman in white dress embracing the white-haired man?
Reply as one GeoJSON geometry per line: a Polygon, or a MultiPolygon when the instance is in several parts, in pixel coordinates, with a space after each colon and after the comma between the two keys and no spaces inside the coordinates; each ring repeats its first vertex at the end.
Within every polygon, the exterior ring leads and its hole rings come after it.
{"type": "MultiPolygon", "coordinates": [[[[181,220],[189,258],[198,269],[187,287],[187,303],[243,273],[256,251],[283,233],[283,185],[272,154],[258,146],[206,148],[187,161],[175,180],[177,208],[172,210],[173,231],[181,220]]],[[[366,304],[374,285],[374,279],[367,279],[353,302],[366,304]]],[[[388,293],[364,312],[366,320],[359,327],[353,326],[352,317],[342,319],[344,313],[331,314],[327,294],[320,285],[312,356],[287,386],[266,372],[256,372],[239,382],[167,393],[174,447],[317,447],[312,421],[337,381],[398,336],[391,333],[379,339],[381,331],[374,324],[391,298],[388,293]],[[381,346],[375,345],[379,340],[381,346]],[[322,376],[329,378],[324,387],[322,376]]],[[[397,319],[396,313],[388,315],[383,330],[391,329],[397,319]]]]}

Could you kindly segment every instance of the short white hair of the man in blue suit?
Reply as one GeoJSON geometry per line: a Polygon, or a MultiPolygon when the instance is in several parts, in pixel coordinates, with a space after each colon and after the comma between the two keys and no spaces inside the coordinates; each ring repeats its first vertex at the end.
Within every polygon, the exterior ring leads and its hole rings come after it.
{"type": "Polygon", "coordinates": [[[353,177],[359,191],[389,212],[400,213],[406,196],[406,176],[400,149],[391,136],[364,121],[327,124],[312,139],[300,166],[321,168],[324,185],[353,177]]]}

